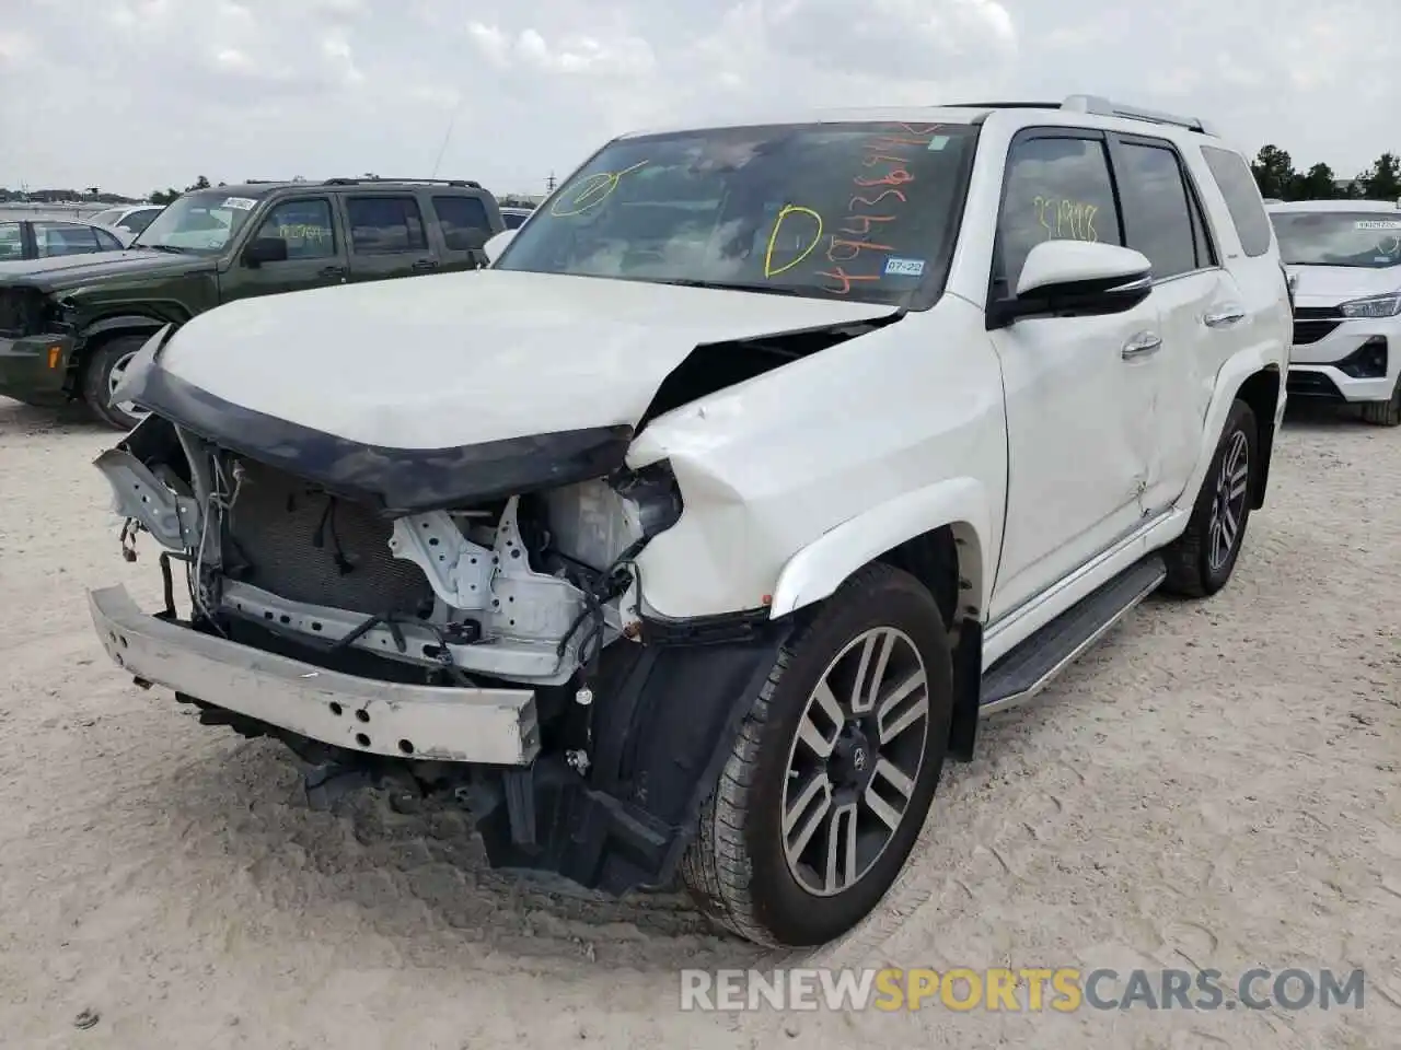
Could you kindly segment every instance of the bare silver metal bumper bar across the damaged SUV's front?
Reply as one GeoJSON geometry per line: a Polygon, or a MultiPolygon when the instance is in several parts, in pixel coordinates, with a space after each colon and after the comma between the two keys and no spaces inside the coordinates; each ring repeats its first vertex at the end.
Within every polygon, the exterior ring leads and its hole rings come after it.
{"type": "Polygon", "coordinates": [[[434,762],[528,766],[535,692],[380,682],[263,652],[143,613],[125,587],[88,592],[106,654],[154,685],[338,748],[434,762]]]}

